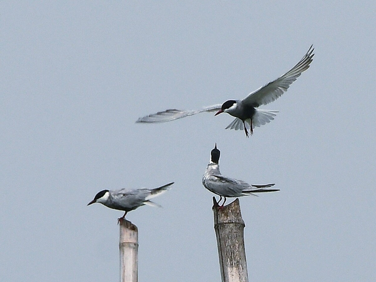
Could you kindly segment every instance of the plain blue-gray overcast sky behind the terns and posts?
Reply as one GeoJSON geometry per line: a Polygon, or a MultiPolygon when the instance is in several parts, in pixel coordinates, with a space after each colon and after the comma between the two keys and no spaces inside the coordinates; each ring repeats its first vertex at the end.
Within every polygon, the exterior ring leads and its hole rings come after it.
{"type": "MultiPolygon", "coordinates": [[[[220,281],[221,172],[278,193],[240,199],[253,281],[376,277],[374,1],[3,2],[0,280],[117,281],[123,212],[103,189],[175,181],[127,215],[139,281],[220,281]],[[227,114],[135,124],[242,99],[314,44],[311,67],[250,138],[227,114]]],[[[229,201],[230,202],[230,201],[229,201]]]]}

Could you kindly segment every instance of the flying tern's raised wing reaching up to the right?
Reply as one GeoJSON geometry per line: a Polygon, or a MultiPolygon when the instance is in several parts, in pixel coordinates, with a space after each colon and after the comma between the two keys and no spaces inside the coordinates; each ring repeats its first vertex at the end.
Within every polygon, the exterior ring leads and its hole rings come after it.
{"type": "Polygon", "coordinates": [[[250,93],[243,99],[243,102],[258,107],[260,105],[266,105],[273,102],[278,97],[282,96],[282,94],[287,91],[290,85],[302,74],[302,72],[309,68],[309,64],[312,62],[312,57],[315,55],[312,54],[312,52],[315,50],[312,47],[313,45],[309,47],[304,57],[291,70],[289,70],[283,76],[278,77],[276,80],[273,80],[272,82],[269,82],[256,91],[250,93]]]}

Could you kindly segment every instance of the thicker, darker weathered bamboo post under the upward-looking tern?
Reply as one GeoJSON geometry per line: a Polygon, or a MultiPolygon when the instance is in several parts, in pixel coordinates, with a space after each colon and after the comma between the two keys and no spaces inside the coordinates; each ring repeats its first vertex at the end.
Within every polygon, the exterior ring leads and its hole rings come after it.
{"type": "Polygon", "coordinates": [[[217,236],[218,258],[222,282],[248,282],[244,220],[239,199],[223,209],[213,197],[214,229],[217,236]]]}

